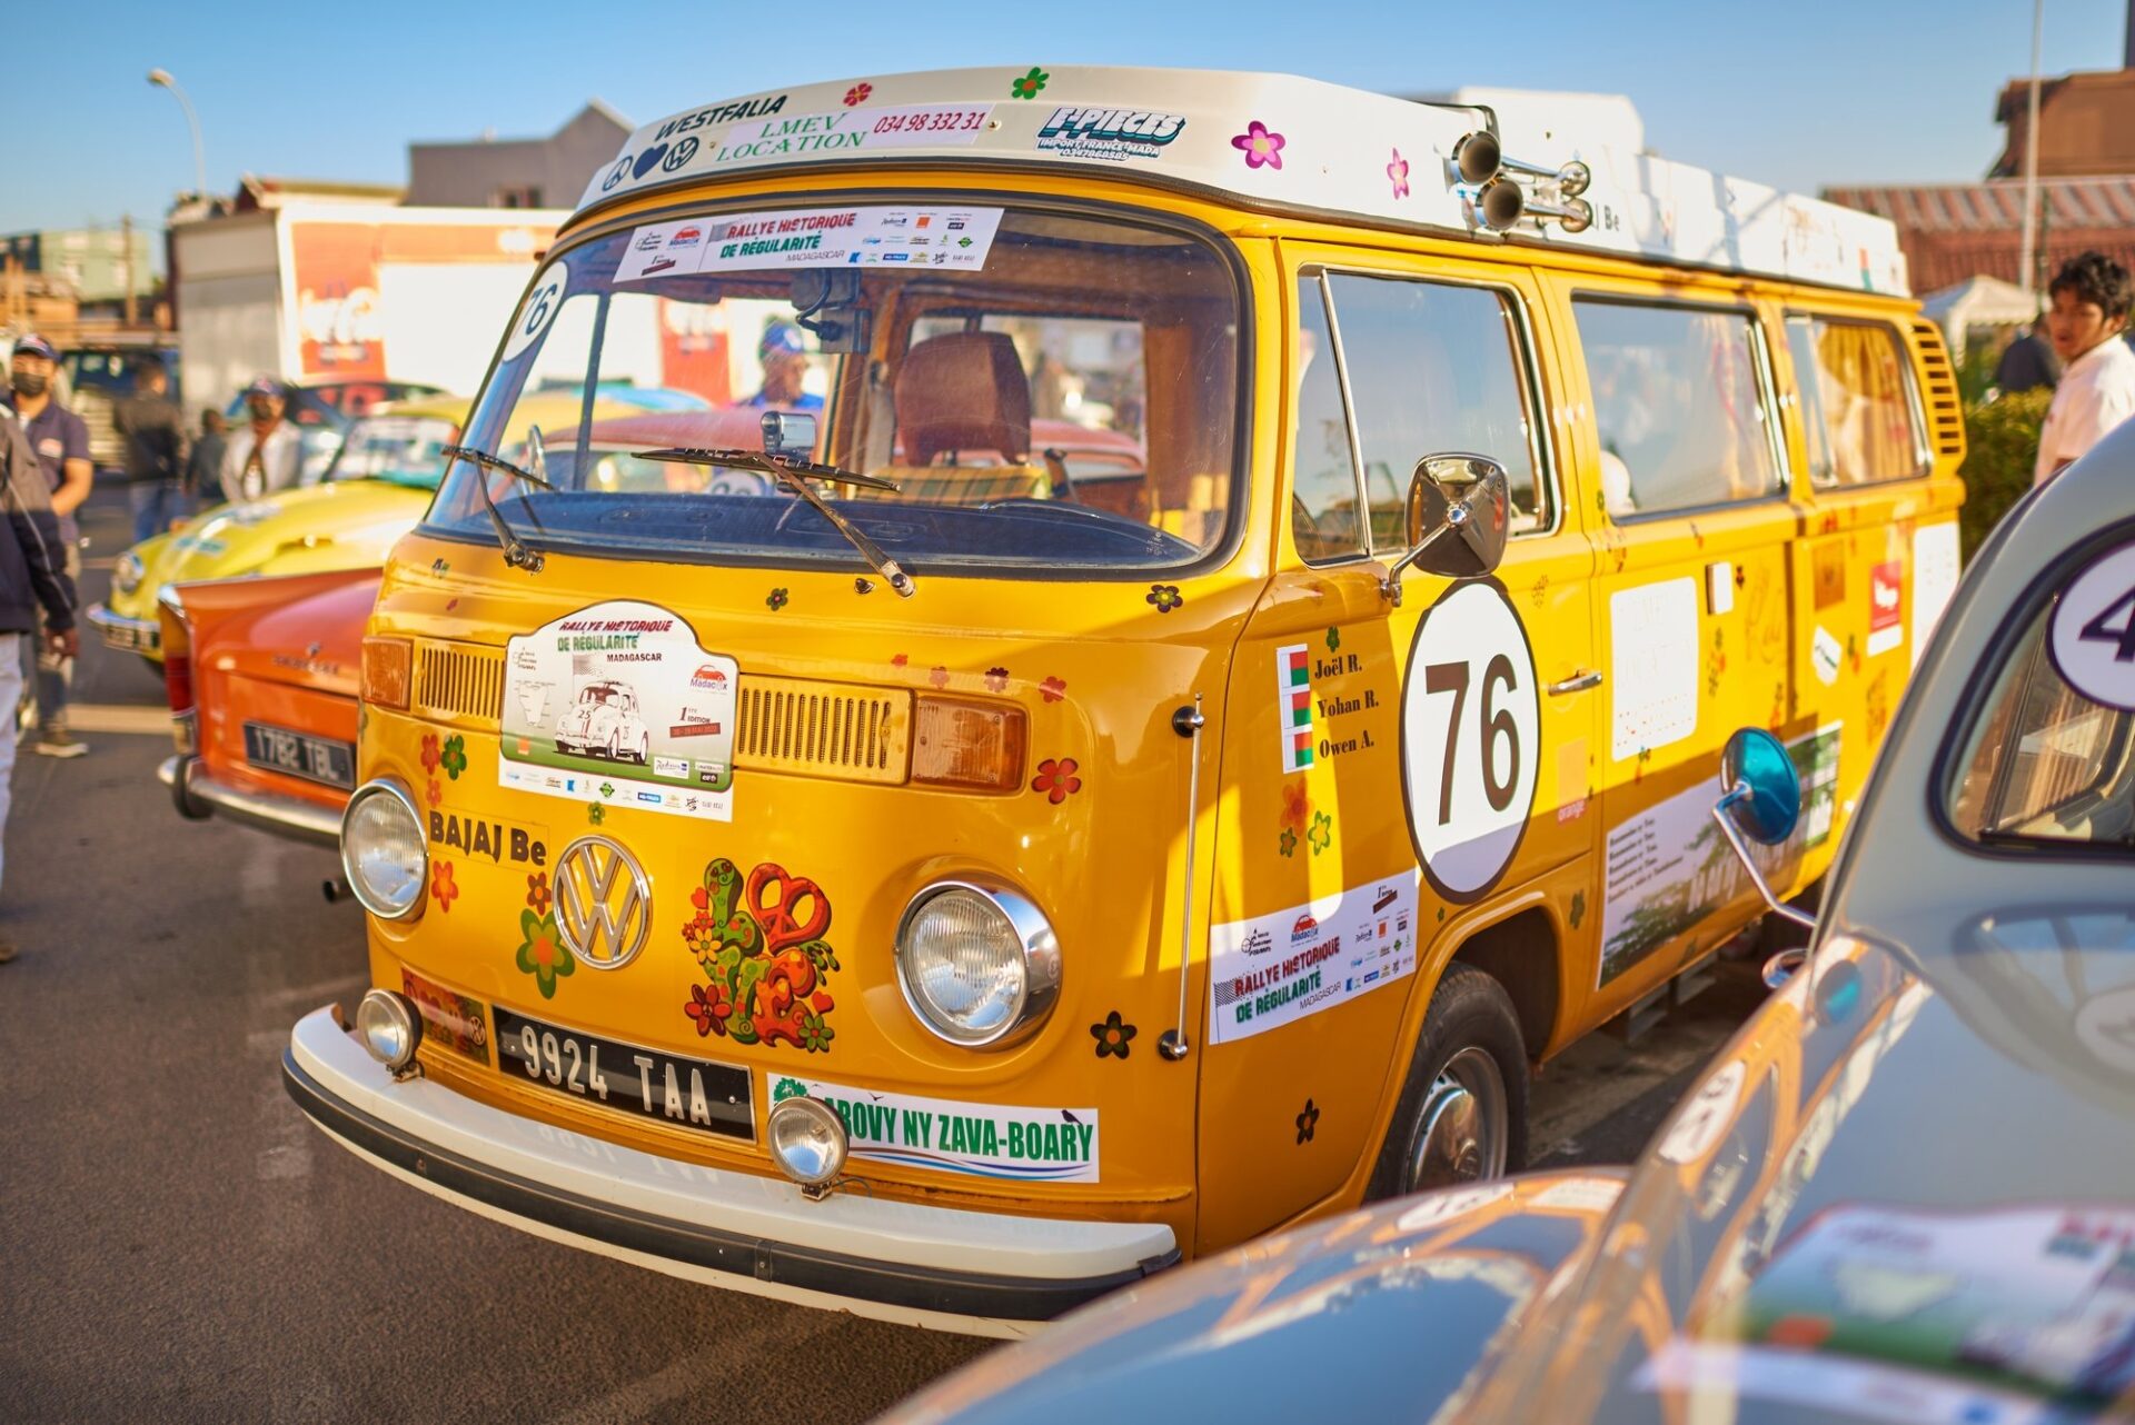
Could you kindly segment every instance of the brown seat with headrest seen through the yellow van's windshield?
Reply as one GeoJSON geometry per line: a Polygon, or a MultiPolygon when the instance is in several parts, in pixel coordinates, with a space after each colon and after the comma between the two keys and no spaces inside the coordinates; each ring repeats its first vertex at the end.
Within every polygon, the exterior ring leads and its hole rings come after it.
{"type": "Polygon", "coordinates": [[[897,367],[895,397],[905,463],[873,474],[901,489],[858,497],[937,506],[1053,497],[1053,476],[1031,463],[1031,382],[1008,333],[920,341],[897,367]]]}

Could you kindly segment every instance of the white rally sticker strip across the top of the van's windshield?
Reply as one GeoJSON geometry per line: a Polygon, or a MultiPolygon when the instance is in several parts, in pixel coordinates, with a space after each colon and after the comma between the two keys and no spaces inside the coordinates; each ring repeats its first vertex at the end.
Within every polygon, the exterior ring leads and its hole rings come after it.
{"type": "Polygon", "coordinates": [[[826,207],[679,218],[630,235],[617,282],[788,267],[982,271],[997,207],[826,207]]]}

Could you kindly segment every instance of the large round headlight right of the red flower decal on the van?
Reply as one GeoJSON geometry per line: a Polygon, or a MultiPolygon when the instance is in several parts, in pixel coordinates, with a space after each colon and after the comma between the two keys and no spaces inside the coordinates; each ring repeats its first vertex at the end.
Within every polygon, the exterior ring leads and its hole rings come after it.
{"type": "Polygon", "coordinates": [[[897,926],[897,983],[920,1024],[965,1047],[1038,1024],[1059,992],[1053,926],[1021,894],[967,881],[914,896],[897,926]]]}

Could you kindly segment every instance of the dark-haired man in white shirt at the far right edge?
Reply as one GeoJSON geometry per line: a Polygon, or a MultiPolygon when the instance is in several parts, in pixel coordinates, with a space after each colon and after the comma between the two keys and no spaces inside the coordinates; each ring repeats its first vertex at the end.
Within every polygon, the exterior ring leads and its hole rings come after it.
{"type": "Polygon", "coordinates": [[[2135,303],[2129,269],[2101,252],[2086,252],[2060,267],[2047,292],[2054,305],[2045,314],[2045,331],[2062,371],[2039,429],[2033,484],[2045,484],[2135,416],[2135,352],[2120,339],[2135,303]]]}

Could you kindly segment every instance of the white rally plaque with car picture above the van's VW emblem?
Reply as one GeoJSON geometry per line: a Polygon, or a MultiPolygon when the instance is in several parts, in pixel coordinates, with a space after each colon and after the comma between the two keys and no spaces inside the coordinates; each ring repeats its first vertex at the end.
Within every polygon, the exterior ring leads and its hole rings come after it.
{"type": "Polygon", "coordinates": [[[504,649],[497,783],[732,821],[739,681],[734,659],[658,604],[544,623],[504,649]]]}

